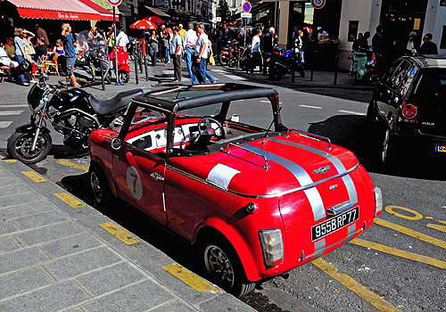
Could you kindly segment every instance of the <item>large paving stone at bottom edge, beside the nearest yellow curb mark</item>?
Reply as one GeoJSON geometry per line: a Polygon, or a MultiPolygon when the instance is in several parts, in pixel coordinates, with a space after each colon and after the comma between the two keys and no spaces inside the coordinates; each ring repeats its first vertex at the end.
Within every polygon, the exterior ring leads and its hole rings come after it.
{"type": "Polygon", "coordinates": [[[84,308],[89,312],[143,312],[172,298],[161,286],[145,281],[93,300],[84,308]]]}

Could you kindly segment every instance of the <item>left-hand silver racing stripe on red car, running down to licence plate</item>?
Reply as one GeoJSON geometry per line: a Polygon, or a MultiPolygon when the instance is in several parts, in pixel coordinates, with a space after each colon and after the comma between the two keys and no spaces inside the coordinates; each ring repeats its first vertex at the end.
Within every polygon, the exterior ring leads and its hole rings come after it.
{"type": "MultiPolygon", "coordinates": [[[[244,145],[244,148],[251,152],[257,152],[260,155],[265,156],[268,160],[272,160],[280,166],[286,168],[293,174],[293,176],[296,178],[297,182],[299,182],[301,186],[311,185],[313,183],[313,180],[311,179],[307,171],[305,171],[295,162],[278,156],[275,153],[267,152],[260,148],[254,147],[252,145],[244,145]]],[[[313,211],[315,221],[326,218],[326,209],[324,207],[324,202],[322,201],[322,197],[320,197],[318,189],[316,187],[311,187],[305,190],[304,193],[305,195],[307,195],[308,201],[310,201],[310,206],[311,210],[313,211]]]]}

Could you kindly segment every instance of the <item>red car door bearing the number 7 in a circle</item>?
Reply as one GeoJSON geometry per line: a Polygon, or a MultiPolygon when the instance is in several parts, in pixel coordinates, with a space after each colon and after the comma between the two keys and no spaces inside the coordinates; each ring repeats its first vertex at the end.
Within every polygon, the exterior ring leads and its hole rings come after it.
{"type": "Polygon", "coordinates": [[[146,146],[141,144],[141,139],[152,137],[153,125],[147,123],[145,127],[133,130],[137,131],[137,136],[132,133],[132,127],[129,126],[141,121],[142,110],[136,107],[136,111],[129,110],[128,114],[132,111],[133,118],[128,116],[132,121],[127,127],[126,124],[122,127],[119,136],[120,146],[113,151],[113,179],[118,186],[120,198],[143,210],[161,225],[166,225],[164,206],[166,158],[162,153],[151,152],[153,147],[151,139],[143,141],[146,146]]]}

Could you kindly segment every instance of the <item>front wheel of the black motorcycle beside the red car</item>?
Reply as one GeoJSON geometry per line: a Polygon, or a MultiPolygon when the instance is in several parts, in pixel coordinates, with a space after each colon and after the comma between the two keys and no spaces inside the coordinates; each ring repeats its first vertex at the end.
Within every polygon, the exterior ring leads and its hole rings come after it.
{"type": "Polygon", "coordinates": [[[14,132],[8,138],[8,152],[12,158],[21,160],[26,164],[34,164],[40,160],[44,160],[51,150],[51,135],[41,133],[37,138],[36,149],[31,151],[34,142],[34,133],[17,133],[14,132]]]}

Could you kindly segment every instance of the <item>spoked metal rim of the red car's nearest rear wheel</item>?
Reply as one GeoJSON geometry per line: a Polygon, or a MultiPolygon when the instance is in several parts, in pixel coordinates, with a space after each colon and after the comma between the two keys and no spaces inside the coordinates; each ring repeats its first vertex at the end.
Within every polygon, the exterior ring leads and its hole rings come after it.
{"type": "Polygon", "coordinates": [[[204,250],[204,264],[206,271],[217,281],[229,287],[234,286],[234,268],[225,251],[221,250],[219,246],[209,245],[206,247],[204,250]]]}

